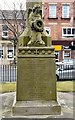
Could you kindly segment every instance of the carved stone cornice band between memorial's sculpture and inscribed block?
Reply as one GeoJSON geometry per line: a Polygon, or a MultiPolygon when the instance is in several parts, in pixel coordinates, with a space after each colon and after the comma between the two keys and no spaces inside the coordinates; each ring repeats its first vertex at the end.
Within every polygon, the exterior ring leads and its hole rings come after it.
{"type": "Polygon", "coordinates": [[[18,57],[25,56],[42,56],[42,55],[52,55],[54,54],[54,48],[52,47],[19,47],[18,57]]]}

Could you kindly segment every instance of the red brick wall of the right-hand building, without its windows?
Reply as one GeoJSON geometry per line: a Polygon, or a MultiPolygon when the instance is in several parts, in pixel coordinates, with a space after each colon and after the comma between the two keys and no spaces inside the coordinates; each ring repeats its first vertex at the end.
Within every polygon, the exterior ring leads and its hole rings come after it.
{"type": "MultiPolygon", "coordinates": [[[[69,58],[75,58],[73,51],[69,49],[71,44],[75,45],[75,1],[74,0],[44,0],[43,1],[43,19],[46,27],[50,28],[50,36],[52,39],[53,45],[61,45],[64,50],[70,51],[69,58]],[[49,17],[49,6],[56,6],[56,17],[49,17]],[[69,17],[62,18],[62,6],[69,6],[69,17]],[[63,37],[63,28],[73,28],[74,29],[74,37],[63,37]]],[[[56,50],[59,52],[59,61],[64,59],[63,53],[64,50],[56,50]]]]}

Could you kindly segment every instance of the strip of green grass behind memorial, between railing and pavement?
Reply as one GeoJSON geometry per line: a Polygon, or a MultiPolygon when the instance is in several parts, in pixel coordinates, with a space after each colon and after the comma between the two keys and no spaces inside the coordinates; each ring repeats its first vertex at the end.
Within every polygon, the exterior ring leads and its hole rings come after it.
{"type": "MultiPolygon", "coordinates": [[[[16,83],[0,83],[0,93],[16,91],[16,83]]],[[[58,92],[75,92],[75,81],[57,82],[58,92]]]]}

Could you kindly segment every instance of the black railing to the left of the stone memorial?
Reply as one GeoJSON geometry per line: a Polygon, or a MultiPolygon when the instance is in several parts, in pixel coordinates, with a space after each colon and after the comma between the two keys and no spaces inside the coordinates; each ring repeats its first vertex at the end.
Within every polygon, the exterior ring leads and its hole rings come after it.
{"type": "Polygon", "coordinates": [[[17,66],[0,65],[0,82],[15,82],[17,80],[17,66]]]}

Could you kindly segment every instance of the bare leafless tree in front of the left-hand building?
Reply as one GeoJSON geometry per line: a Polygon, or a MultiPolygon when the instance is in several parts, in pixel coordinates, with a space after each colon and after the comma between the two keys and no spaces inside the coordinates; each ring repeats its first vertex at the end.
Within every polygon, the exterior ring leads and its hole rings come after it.
{"type": "MultiPolygon", "coordinates": [[[[20,7],[21,8],[21,7],[20,7]]],[[[7,11],[8,12],[8,11],[7,11]]],[[[5,21],[5,24],[7,25],[8,29],[12,31],[13,33],[13,39],[16,39],[16,42],[18,40],[18,37],[22,34],[22,32],[25,29],[25,15],[26,12],[22,9],[20,10],[13,10],[11,19],[13,22],[11,22],[9,16],[6,14],[6,10],[1,10],[2,13],[2,21],[5,21]]],[[[9,14],[11,13],[9,12],[9,14]]]]}

